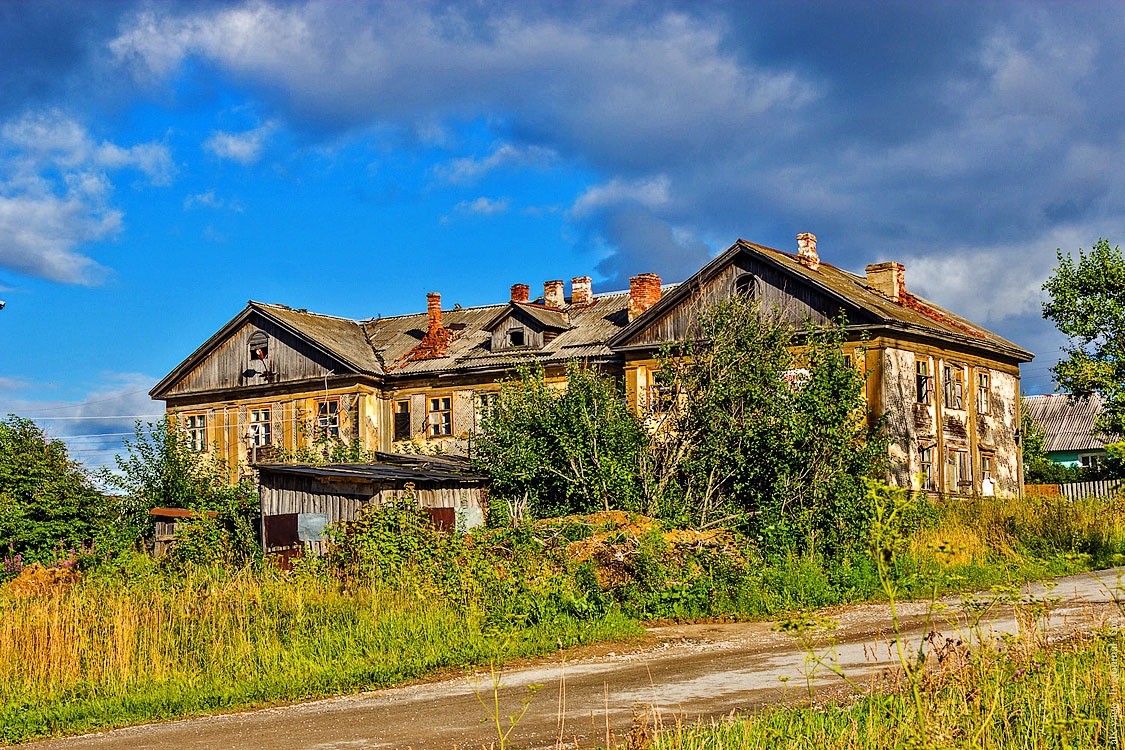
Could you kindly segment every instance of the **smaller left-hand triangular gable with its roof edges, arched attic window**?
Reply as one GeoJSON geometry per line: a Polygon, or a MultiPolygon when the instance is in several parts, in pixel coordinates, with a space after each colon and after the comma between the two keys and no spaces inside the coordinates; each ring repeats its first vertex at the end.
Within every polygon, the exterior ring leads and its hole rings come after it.
{"type": "Polygon", "coordinates": [[[325,374],[332,377],[354,371],[323,349],[251,309],[244,310],[173,370],[153,389],[152,395],[155,398],[176,398],[233,388],[316,380],[325,374]],[[253,349],[256,350],[263,335],[268,346],[266,358],[254,359],[251,340],[254,340],[253,349]]]}

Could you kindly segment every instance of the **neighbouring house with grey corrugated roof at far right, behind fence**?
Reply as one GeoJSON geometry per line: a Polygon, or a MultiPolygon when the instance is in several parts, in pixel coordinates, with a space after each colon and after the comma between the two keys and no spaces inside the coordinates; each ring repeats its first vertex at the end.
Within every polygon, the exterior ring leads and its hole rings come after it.
{"type": "Polygon", "coordinates": [[[1045,394],[1024,398],[1027,412],[1043,430],[1047,458],[1064,467],[1096,469],[1106,458],[1106,443],[1114,437],[1098,432],[1101,397],[1073,398],[1070,394],[1045,394]]]}

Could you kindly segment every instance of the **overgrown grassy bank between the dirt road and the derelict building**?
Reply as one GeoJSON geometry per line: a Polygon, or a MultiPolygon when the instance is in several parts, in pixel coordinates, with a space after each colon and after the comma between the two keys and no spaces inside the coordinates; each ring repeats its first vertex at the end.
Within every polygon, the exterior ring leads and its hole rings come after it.
{"type": "MultiPolygon", "coordinates": [[[[0,740],[375,688],[632,636],[644,617],[771,617],[881,596],[866,555],[674,540],[570,522],[411,542],[390,582],[150,567],[50,596],[0,589],[0,740]]],[[[956,503],[912,533],[893,576],[925,597],[1104,567],[1123,549],[1122,500],[956,503]]]]}

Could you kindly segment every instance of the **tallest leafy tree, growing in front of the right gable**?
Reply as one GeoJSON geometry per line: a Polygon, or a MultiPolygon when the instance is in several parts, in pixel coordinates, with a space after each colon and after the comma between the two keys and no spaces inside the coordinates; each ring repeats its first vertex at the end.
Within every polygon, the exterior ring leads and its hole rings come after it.
{"type": "Polygon", "coordinates": [[[883,473],[883,419],[840,325],[796,332],[736,297],[662,355],[646,466],[651,509],[701,526],[744,519],[764,544],[829,550],[866,539],[864,480],[883,473]]]}

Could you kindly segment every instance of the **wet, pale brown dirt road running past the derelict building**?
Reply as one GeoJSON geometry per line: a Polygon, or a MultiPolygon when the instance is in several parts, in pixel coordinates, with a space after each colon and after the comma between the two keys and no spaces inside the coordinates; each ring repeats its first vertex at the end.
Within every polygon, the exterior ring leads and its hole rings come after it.
{"type": "MultiPolygon", "coordinates": [[[[1080,627],[1120,622],[1109,589],[1125,568],[1059,579],[1050,590],[1024,587],[1024,594],[1061,597],[1048,627],[1062,634],[1080,627]]],[[[1125,585],[1125,584],[1123,584],[1125,585]]],[[[990,595],[980,595],[988,597],[990,595]]],[[[899,607],[903,632],[917,644],[928,626],[956,636],[962,625],[961,597],[943,599],[946,613],[932,618],[929,603],[899,607]]],[[[839,623],[835,633],[837,663],[849,677],[870,676],[891,665],[891,615],[888,605],[839,607],[824,613],[839,623]]],[[[1015,632],[1010,608],[998,607],[987,620],[993,633],[1015,632]]],[[[528,686],[541,685],[526,714],[510,735],[519,748],[551,747],[560,733],[568,744],[604,742],[606,726],[620,738],[633,707],[652,706],[666,719],[721,716],[784,699],[788,690],[804,690],[806,652],[793,639],[773,632],[774,623],[677,625],[654,627],[651,641],[627,651],[587,650],[569,660],[547,658],[511,669],[498,690],[502,721],[520,710],[528,686]]],[[[612,648],[612,647],[611,647],[612,648]]],[[[840,680],[820,676],[818,689],[840,680]]],[[[361,748],[476,749],[496,740],[495,725],[474,686],[493,699],[487,671],[417,685],[328,698],[237,714],[147,724],[99,734],[22,746],[36,750],[358,750],[361,748]]]]}

